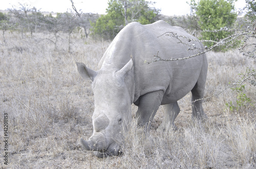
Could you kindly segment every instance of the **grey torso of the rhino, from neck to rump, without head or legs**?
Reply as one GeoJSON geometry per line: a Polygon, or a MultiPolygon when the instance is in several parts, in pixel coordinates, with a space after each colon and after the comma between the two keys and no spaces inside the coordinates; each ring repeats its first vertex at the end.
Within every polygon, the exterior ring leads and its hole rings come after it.
{"type": "MultiPolygon", "coordinates": [[[[188,60],[145,64],[145,60],[152,61],[157,53],[162,59],[177,59],[201,52],[200,49],[188,50],[189,46],[179,43],[175,38],[161,36],[166,32],[196,39],[181,27],[170,26],[164,21],[148,25],[133,22],[120,31],[106,50],[99,65],[100,70],[117,71],[133,58],[134,72],[131,78],[135,81],[134,101],[158,90],[164,91],[170,101],[179,100],[193,89],[203,64],[207,63],[203,54],[188,60]]],[[[202,47],[199,42],[182,40],[191,46],[195,44],[198,48],[202,47]]]]}

